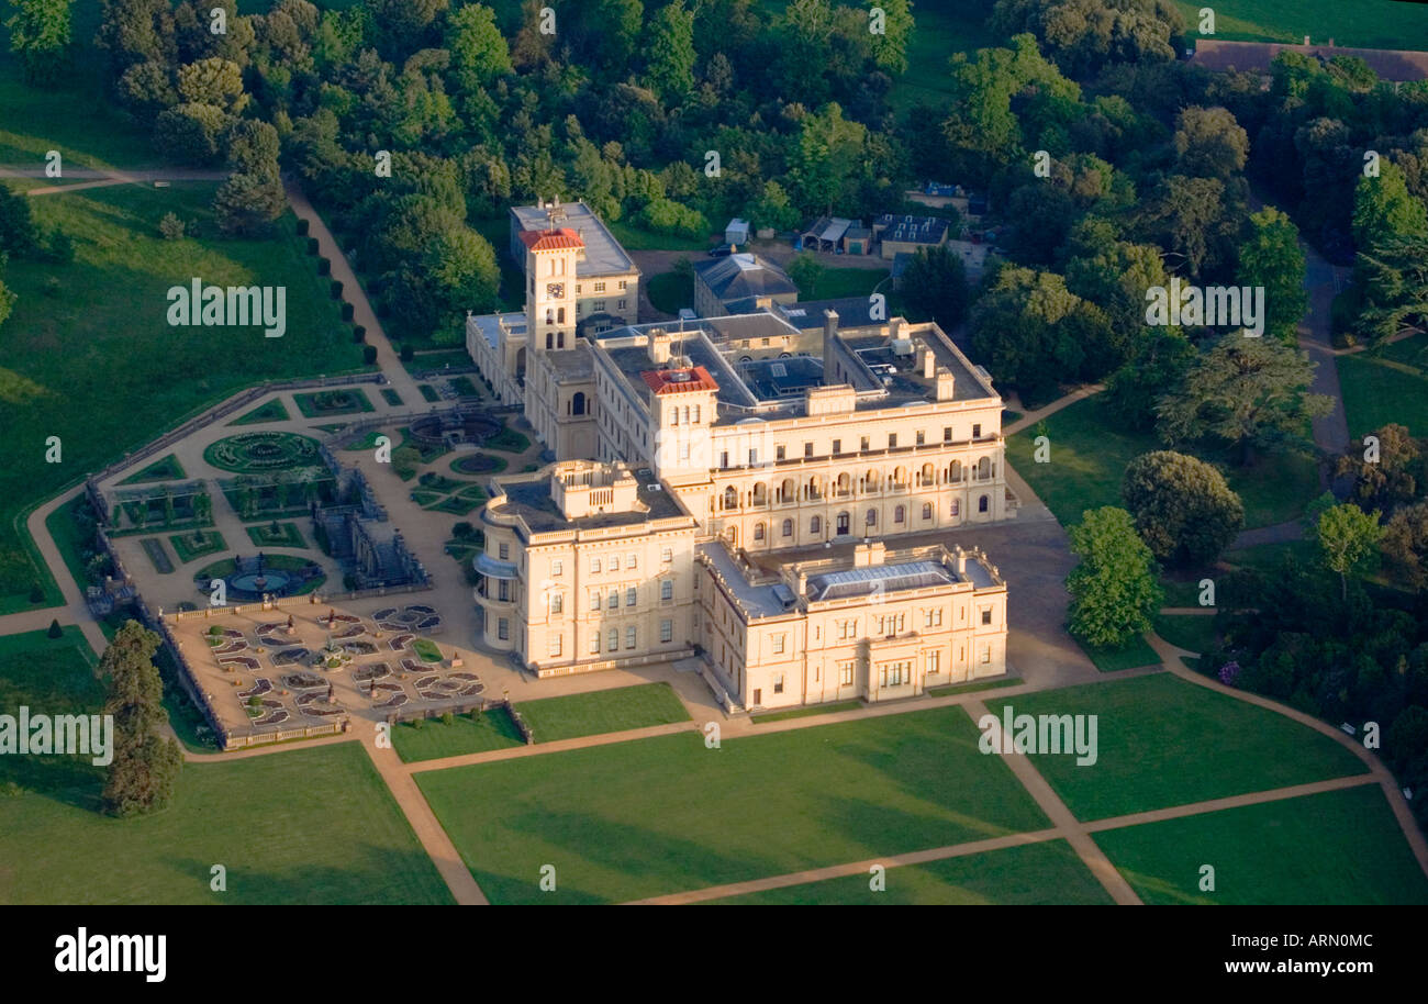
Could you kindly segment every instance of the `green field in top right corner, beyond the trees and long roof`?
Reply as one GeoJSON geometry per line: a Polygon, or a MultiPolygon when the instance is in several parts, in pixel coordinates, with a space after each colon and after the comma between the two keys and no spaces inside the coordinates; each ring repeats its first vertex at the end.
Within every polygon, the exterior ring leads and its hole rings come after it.
{"type": "MultiPolygon", "coordinates": [[[[1198,37],[1200,0],[1175,0],[1187,34],[1198,37]]],[[[1235,0],[1215,6],[1215,37],[1237,41],[1334,39],[1361,49],[1428,49],[1428,10],[1394,0],[1235,0]]]]}

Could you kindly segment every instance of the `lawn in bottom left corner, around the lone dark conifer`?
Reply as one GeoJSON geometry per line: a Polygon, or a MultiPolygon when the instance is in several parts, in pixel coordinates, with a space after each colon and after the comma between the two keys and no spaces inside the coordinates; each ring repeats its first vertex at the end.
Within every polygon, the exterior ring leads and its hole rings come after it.
{"type": "MultiPolygon", "coordinates": [[[[0,637],[0,707],[94,713],[94,663],[76,628],[0,637]]],[[[0,757],[21,788],[0,794],[0,903],[450,903],[357,743],[184,764],[174,803],[133,820],[99,813],[103,781],[87,757],[0,757]]]]}

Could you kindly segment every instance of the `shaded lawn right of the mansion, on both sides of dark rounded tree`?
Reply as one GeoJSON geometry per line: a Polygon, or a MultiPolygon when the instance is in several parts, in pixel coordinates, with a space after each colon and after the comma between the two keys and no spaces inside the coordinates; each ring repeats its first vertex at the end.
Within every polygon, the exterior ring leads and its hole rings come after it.
{"type": "MultiPolygon", "coordinates": [[[[1077,401],[1045,421],[1050,463],[1032,458],[1035,426],[1007,440],[1007,460],[1061,526],[1080,523],[1088,508],[1122,506],[1125,466],[1142,453],[1165,448],[1154,431],[1125,428],[1100,397],[1077,401]]],[[[1264,454],[1252,467],[1230,467],[1225,478],[1240,493],[1247,528],[1298,518],[1318,494],[1317,467],[1299,454],[1264,454]]]]}

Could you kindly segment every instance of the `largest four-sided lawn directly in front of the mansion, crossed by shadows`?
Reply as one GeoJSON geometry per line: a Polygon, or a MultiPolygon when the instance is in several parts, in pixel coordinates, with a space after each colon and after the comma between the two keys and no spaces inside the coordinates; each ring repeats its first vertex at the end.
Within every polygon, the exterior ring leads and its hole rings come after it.
{"type": "Polygon", "coordinates": [[[620,901],[1045,827],[977,741],[950,707],[720,748],[688,733],[416,777],[493,901],[620,901]],[[538,887],[545,864],[553,893],[538,887]]]}

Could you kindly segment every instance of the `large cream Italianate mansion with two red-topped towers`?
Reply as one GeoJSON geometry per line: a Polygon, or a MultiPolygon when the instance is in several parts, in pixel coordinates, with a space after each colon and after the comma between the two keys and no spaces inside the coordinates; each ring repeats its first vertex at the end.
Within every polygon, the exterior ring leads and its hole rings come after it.
{"type": "Polygon", "coordinates": [[[935,324],[865,298],[635,324],[588,209],[511,219],[526,313],[467,348],[554,463],[493,481],[486,644],[540,676],[697,654],[731,708],[1005,673],[1007,586],[947,534],[1015,514],[1002,403],[935,324]]]}

